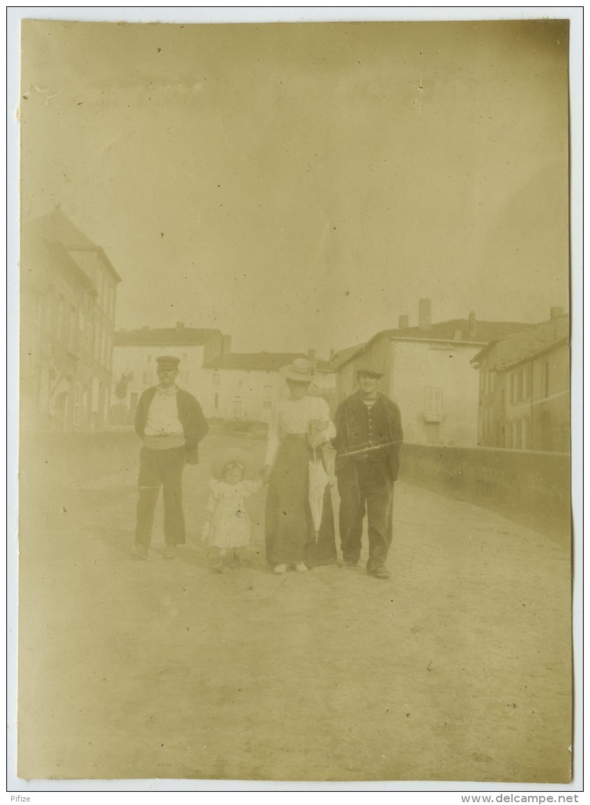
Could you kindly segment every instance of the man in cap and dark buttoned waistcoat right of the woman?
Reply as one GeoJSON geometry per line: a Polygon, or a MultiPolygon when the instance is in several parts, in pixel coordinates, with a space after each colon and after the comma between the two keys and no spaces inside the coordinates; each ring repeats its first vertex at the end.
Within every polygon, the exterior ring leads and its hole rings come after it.
{"type": "Polygon", "coordinates": [[[343,566],[357,567],[366,514],[367,573],[389,579],[386,559],[393,536],[394,482],[403,433],[398,406],[379,390],[381,378],[382,372],[369,363],[358,367],[358,390],[336,411],[332,444],[336,448],[343,566]]]}

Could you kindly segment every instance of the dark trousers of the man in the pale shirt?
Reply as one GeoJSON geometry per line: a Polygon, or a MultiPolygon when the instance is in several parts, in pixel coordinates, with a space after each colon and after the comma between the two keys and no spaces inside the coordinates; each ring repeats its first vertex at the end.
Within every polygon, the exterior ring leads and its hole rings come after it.
{"type": "Polygon", "coordinates": [[[137,545],[150,544],[160,486],[164,489],[164,540],[167,545],[186,541],[182,493],[184,464],[184,447],[170,450],[142,448],[139,453],[139,500],[135,529],[137,545]]]}

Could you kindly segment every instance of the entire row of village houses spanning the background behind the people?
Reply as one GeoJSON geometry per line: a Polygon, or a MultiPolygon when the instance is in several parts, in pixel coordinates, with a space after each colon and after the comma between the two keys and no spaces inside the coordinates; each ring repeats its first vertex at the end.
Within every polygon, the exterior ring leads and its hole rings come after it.
{"type": "Polygon", "coordinates": [[[138,398],[157,382],[156,358],[180,358],[179,385],[212,420],[267,423],[287,393],[279,373],[296,357],[314,364],[313,393],[333,413],[369,361],[396,400],[406,440],[422,444],[567,451],[569,319],[541,324],[467,318],[432,321],[420,299],[417,324],[376,333],[326,359],[299,353],[234,353],[214,328],[114,331],[121,278],[104,250],[60,208],[23,226],[21,415],[24,427],[105,429],[133,423],[138,398]]]}

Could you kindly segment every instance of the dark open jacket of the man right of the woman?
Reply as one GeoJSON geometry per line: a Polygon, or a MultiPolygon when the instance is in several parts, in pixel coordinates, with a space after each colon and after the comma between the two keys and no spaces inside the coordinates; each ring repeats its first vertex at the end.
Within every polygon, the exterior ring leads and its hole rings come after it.
{"type": "MultiPolygon", "coordinates": [[[[378,440],[378,444],[383,445],[382,450],[385,451],[389,464],[390,478],[395,481],[398,477],[399,450],[403,441],[402,417],[398,405],[381,392],[378,392],[374,406],[381,407],[380,413],[385,419],[385,433],[378,440]]],[[[336,436],[332,439],[332,444],[336,448],[336,475],[345,464],[359,460],[365,453],[368,446],[365,433],[366,420],[367,407],[358,391],[338,406],[334,416],[336,436]]],[[[371,456],[372,451],[365,455],[371,456]]]]}

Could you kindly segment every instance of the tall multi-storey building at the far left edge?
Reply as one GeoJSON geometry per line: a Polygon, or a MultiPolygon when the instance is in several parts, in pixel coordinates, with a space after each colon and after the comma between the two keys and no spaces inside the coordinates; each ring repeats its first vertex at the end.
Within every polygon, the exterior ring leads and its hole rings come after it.
{"type": "Polygon", "coordinates": [[[60,208],[23,225],[20,264],[23,427],[107,427],[121,277],[60,208]]]}

